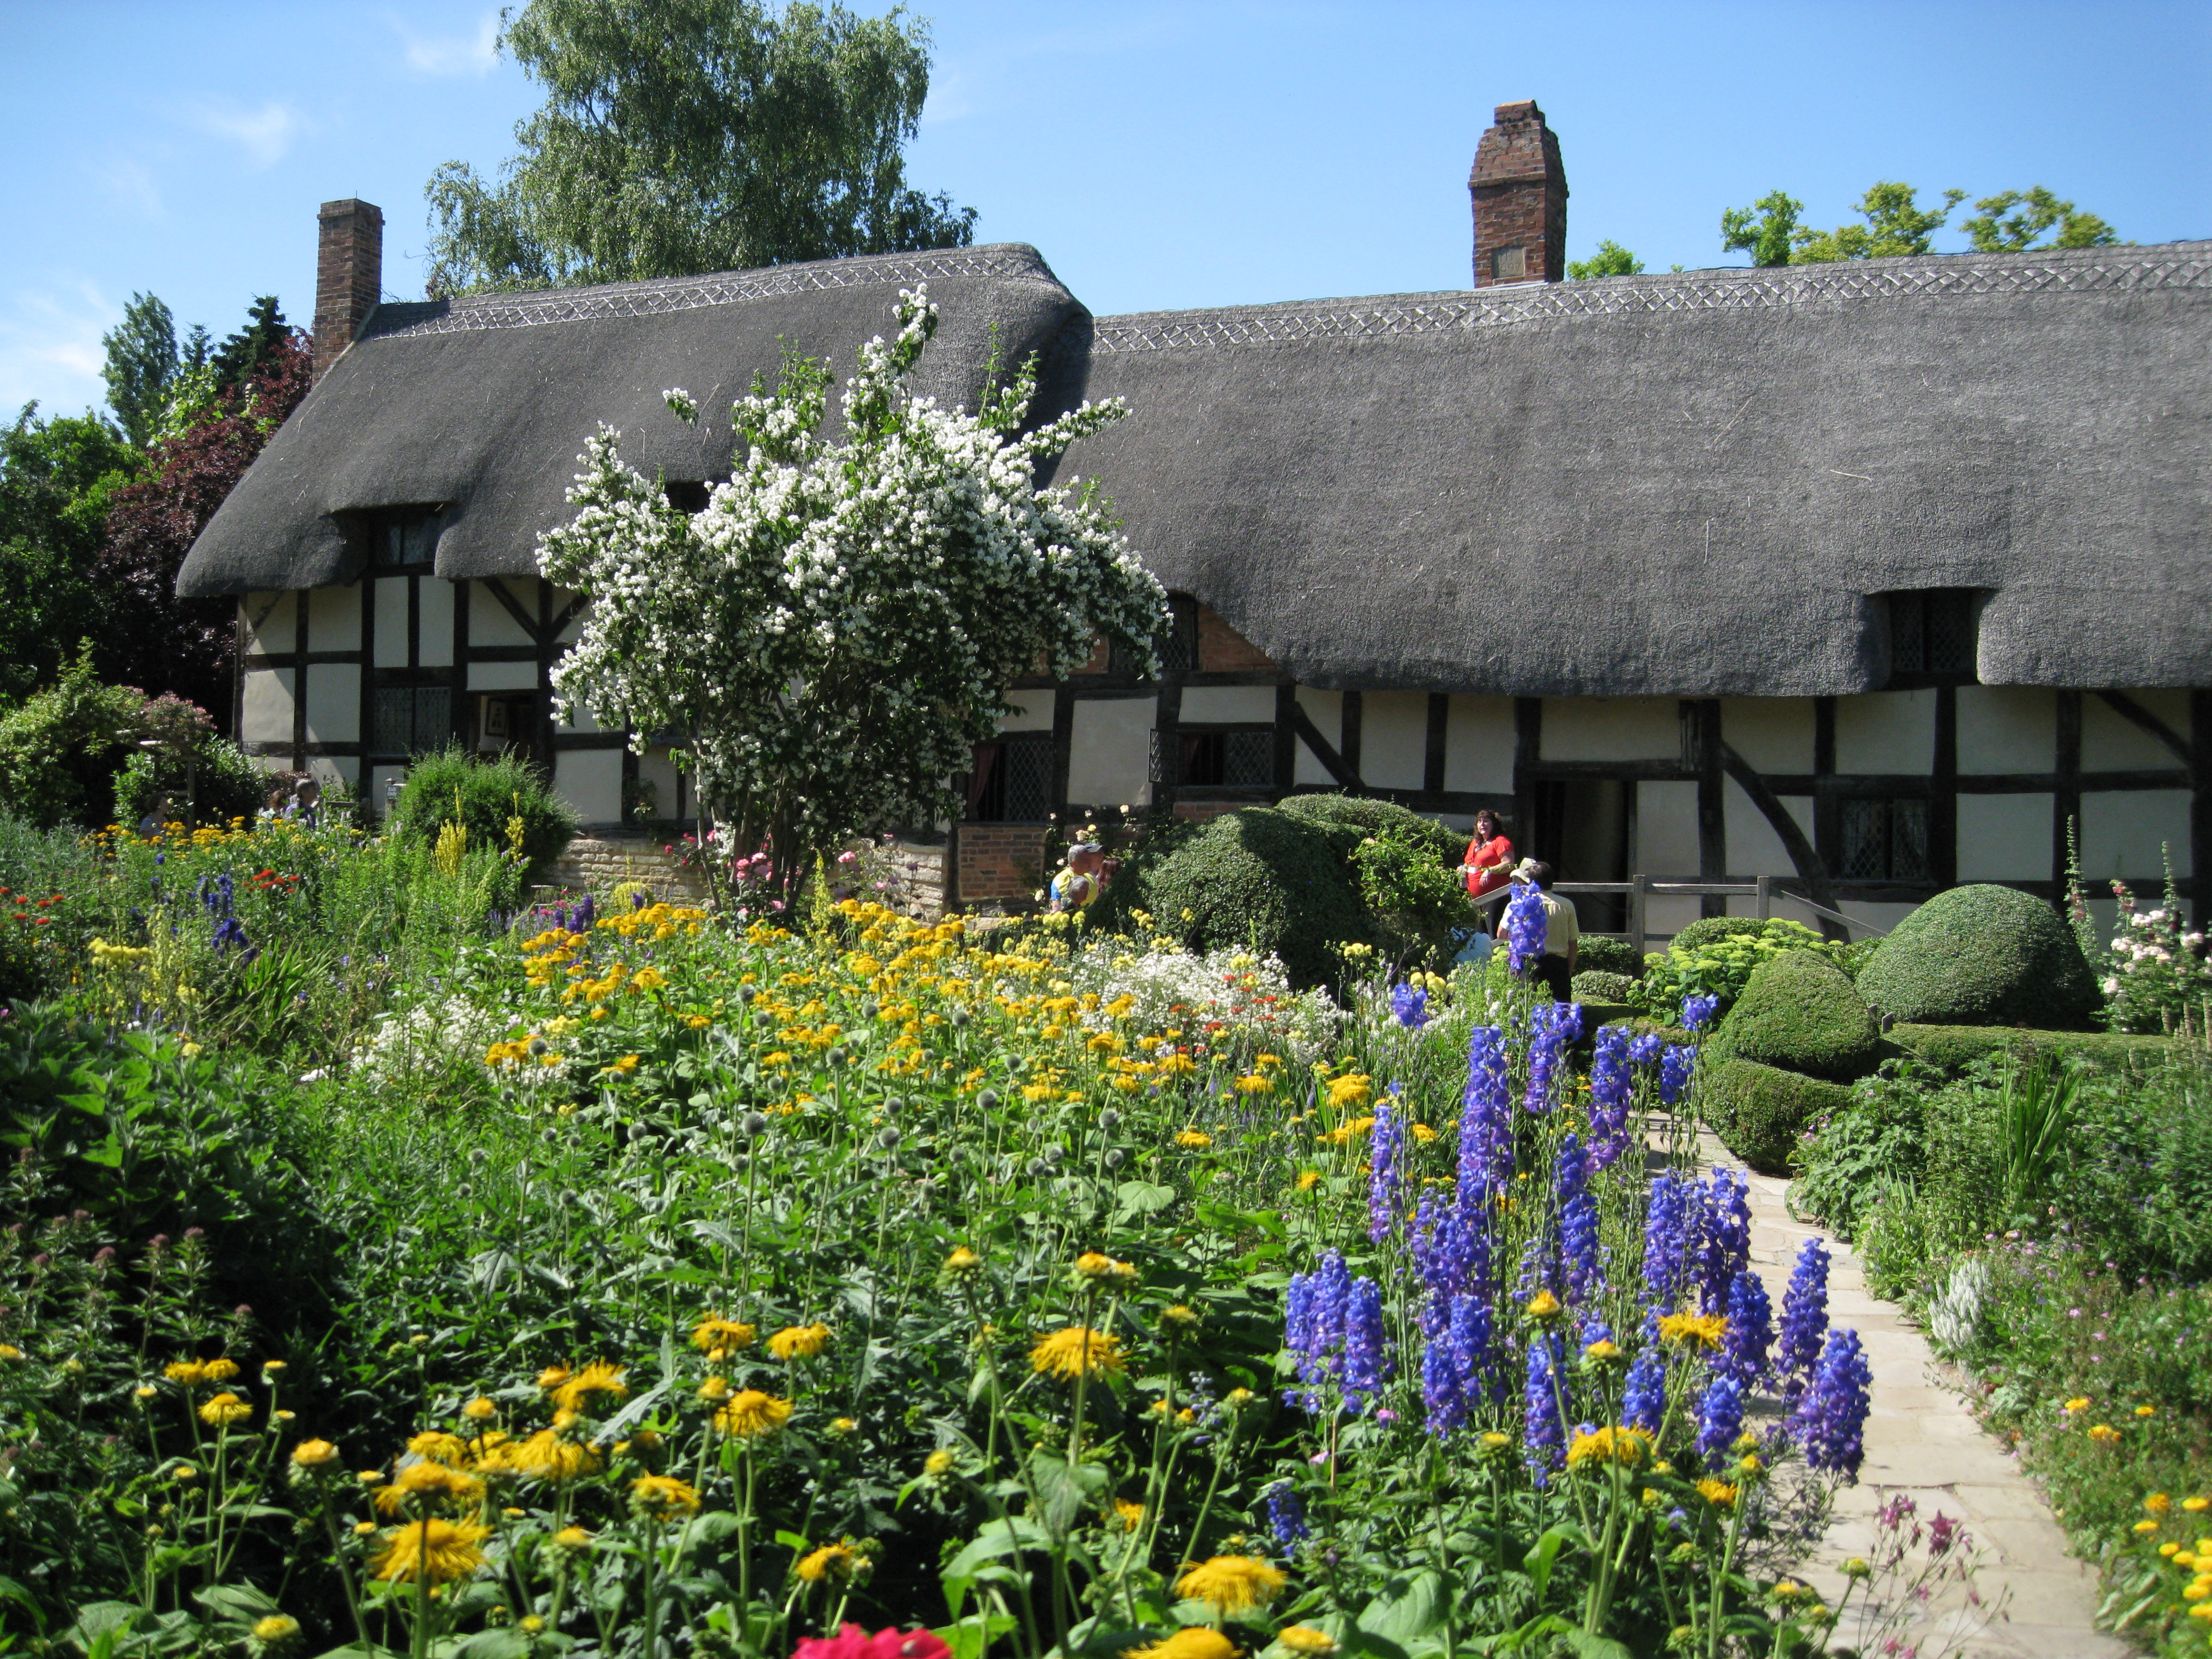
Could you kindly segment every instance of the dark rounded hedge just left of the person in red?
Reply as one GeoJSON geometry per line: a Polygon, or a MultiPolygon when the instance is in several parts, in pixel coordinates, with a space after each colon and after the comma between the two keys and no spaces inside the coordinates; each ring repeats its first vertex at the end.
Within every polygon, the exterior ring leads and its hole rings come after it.
{"type": "Polygon", "coordinates": [[[1374,945],[1352,876],[1360,830],[1276,807],[1223,812],[1166,852],[1137,858],[1093,905],[1102,929],[1141,909],[1194,951],[1272,951],[1298,987],[1334,978],[1332,947],[1374,945]]]}

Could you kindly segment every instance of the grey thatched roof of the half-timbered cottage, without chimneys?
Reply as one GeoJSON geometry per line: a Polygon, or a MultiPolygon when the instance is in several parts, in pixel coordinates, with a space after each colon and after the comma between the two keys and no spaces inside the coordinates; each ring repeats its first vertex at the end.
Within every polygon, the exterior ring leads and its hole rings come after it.
{"type": "Polygon", "coordinates": [[[849,365],[918,276],[945,396],[998,323],[1055,347],[1055,403],[1128,398],[1062,473],[1307,684],[1854,692],[1891,588],[1989,591],[1991,684],[2212,684],[2212,243],[1095,325],[1029,248],[387,305],[179,586],[332,580],[332,511],[429,500],[442,573],[529,571],[595,420],[714,476],[726,416],[650,418],[664,387],[726,407],[776,334],[849,365]]]}

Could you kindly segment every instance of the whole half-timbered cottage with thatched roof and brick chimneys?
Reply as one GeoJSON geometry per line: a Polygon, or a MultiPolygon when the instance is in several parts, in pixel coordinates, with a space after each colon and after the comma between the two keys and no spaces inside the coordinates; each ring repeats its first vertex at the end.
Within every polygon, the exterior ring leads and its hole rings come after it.
{"type": "MultiPolygon", "coordinates": [[[[785,343],[849,365],[896,292],[1040,403],[1175,595],[1157,684],[1022,684],[947,880],[1020,898],[1053,814],[1352,790],[1506,814],[1568,878],[1781,876],[1887,922],[1962,880],[2190,891],[2212,865],[2212,243],[1564,283],[1535,104],[1471,177],[1473,288],[1091,316],[1024,246],[378,303],[321,217],[323,378],[179,577],[239,595],[237,730],[380,796],[451,739],[540,754],[613,832],[666,750],[555,723],[582,599],[535,577],[597,420],[677,504],[785,343]],[[710,416],[681,427],[661,389],[710,416]],[[717,411],[719,418],[717,418],[717,411]]],[[[1692,905],[1692,900],[1679,900],[1692,905]]],[[[2201,898],[2199,898],[2201,905],[2201,898]]],[[[1681,916],[1652,911],[1668,931],[1681,916]]]]}

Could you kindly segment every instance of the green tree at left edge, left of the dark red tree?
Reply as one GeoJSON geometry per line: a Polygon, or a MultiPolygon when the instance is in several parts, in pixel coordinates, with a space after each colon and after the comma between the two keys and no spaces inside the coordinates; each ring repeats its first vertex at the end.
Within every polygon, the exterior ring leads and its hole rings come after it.
{"type": "Polygon", "coordinates": [[[0,699],[51,684],[80,635],[104,637],[93,564],[135,465],[95,414],[40,420],[27,403],[0,427],[0,699]]]}

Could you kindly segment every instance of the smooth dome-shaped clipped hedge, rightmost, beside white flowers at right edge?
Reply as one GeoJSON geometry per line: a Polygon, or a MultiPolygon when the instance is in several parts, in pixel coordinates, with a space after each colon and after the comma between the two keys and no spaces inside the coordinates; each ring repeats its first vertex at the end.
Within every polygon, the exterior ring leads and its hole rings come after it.
{"type": "Polygon", "coordinates": [[[2081,947],[2039,898],[1951,887],[1916,909],[1858,973],[1882,1013],[1931,1026],[2079,1029],[2097,1011],[2081,947]]]}

